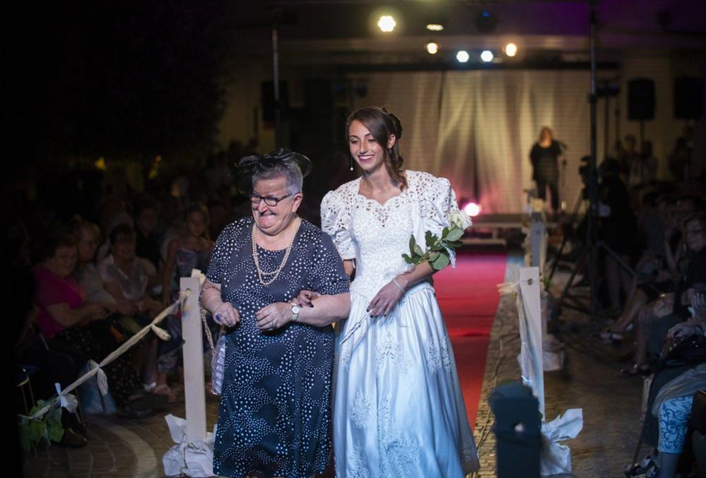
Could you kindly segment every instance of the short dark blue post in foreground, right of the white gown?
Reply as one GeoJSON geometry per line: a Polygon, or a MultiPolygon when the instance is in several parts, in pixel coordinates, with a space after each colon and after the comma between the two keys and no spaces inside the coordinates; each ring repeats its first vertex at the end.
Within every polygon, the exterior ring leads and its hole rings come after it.
{"type": "Polygon", "coordinates": [[[495,415],[498,478],[539,478],[539,402],[517,381],[500,385],[488,398],[495,415]]]}

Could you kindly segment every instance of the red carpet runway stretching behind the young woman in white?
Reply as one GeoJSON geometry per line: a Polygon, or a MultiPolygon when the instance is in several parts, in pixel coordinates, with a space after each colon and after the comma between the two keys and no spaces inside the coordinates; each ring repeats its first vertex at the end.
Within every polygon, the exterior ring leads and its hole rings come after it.
{"type": "Polygon", "coordinates": [[[448,267],[434,275],[471,425],[476,423],[490,328],[500,301],[495,286],[505,281],[506,263],[504,253],[464,253],[459,254],[455,269],[448,267]]]}

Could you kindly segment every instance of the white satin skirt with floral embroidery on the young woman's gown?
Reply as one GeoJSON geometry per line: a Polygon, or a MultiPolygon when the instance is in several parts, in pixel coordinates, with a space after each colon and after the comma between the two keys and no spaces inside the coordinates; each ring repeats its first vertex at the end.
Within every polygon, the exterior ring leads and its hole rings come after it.
{"type": "Polygon", "coordinates": [[[337,325],[336,477],[464,477],[478,470],[449,336],[434,289],[408,291],[387,317],[351,292],[337,325]]]}

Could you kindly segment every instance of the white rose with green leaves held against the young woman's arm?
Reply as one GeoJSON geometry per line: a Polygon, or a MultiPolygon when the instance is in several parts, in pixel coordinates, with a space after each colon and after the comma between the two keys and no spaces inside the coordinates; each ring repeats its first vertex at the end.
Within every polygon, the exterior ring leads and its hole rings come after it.
{"type": "Polygon", "coordinates": [[[434,270],[442,270],[451,259],[449,251],[458,249],[461,246],[461,236],[466,229],[471,227],[473,222],[465,211],[457,210],[449,214],[449,227],[445,227],[441,232],[441,237],[437,237],[433,232],[427,231],[424,234],[426,250],[417,244],[414,236],[409,238],[409,254],[402,254],[404,260],[409,264],[419,264],[428,261],[434,270]]]}

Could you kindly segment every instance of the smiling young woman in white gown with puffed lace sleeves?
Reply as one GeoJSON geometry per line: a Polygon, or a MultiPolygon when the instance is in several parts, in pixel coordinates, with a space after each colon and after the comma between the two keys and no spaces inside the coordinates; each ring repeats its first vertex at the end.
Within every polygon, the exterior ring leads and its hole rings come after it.
{"type": "Polygon", "coordinates": [[[351,315],[337,325],[336,476],[464,477],[478,469],[478,452],[435,271],[402,258],[412,234],[424,244],[425,231],[449,225],[454,191],[447,179],[401,170],[401,125],[384,109],[353,113],[347,132],[363,176],[327,193],[321,207],[322,229],[346,272],[355,270],[351,315]]]}

